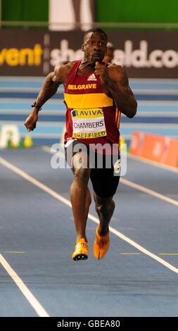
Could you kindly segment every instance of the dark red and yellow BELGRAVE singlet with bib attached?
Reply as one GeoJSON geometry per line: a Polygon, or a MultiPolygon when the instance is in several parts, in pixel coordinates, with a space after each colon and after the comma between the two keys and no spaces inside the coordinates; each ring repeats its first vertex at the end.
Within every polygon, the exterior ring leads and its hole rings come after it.
{"type": "Polygon", "coordinates": [[[100,78],[94,72],[77,75],[81,61],[70,70],[65,85],[65,142],[77,139],[89,144],[119,144],[120,111],[113,99],[101,90],[100,78]]]}

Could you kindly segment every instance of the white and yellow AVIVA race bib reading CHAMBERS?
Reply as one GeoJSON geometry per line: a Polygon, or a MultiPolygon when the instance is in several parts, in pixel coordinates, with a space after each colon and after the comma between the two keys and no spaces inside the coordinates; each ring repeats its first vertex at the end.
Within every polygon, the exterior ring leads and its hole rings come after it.
{"type": "Polygon", "coordinates": [[[73,109],[71,111],[74,138],[98,138],[106,136],[102,108],[73,109]]]}

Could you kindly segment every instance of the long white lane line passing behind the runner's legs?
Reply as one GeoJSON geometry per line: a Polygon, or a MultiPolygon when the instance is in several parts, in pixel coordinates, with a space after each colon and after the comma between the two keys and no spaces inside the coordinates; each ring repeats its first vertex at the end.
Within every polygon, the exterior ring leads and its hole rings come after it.
{"type": "MultiPolygon", "coordinates": [[[[47,187],[46,185],[42,184],[38,180],[35,180],[30,175],[27,175],[27,173],[25,173],[23,170],[20,170],[19,168],[15,167],[15,165],[9,163],[4,158],[1,158],[0,157],[0,163],[2,165],[4,165],[6,168],[14,171],[15,173],[17,173],[21,177],[25,178],[25,180],[28,180],[29,182],[31,182],[32,184],[36,185],[40,189],[43,189],[46,193],[50,194],[54,198],[58,199],[59,201],[62,201],[67,206],[72,207],[71,206],[71,203],[70,203],[70,201],[68,199],[65,199],[63,196],[61,196],[61,194],[58,194],[57,192],[53,191],[53,189],[50,189],[49,187],[47,187]]],[[[90,220],[93,220],[95,223],[98,224],[98,218],[96,218],[95,216],[91,215],[90,213],[89,213],[88,218],[90,220]]],[[[129,237],[126,237],[125,235],[122,235],[121,232],[115,230],[113,227],[110,227],[110,232],[113,232],[113,234],[115,234],[117,237],[120,237],[122,240],[124,240],[128,244],[134,246],[136,249],[138,249],[142,253],[150,256],[155,261],[158,261],[159,263],[163,264],[163,266],[165,266],[166,268],[169,268],[170,270],[174,271],[174,273],[178,273],[178,269],[175,268],[174,266],[172,266],[170,263],[167,263],[165,260],[163,260],[159,256],[156,256],[155,254],[151,253],[150,251],[148,251],[147,249],[145,249],[143,246],[141,246],[141,245],[137,244],[136,242],[134,242],[132,239],[129,239],[129,237]]]]}

